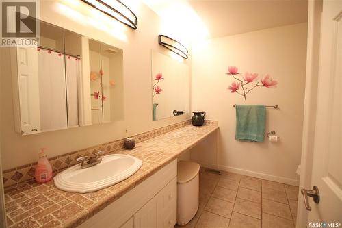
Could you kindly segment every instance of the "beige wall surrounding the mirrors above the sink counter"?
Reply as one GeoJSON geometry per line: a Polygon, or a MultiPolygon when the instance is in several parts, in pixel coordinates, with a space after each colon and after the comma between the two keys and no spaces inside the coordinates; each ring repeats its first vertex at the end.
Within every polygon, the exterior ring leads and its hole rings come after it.
{"type": "MultiPolygon", "coordinates": [[[[124,121],[21,136],[14,131],[12,81],[8,51],[1,49],[1,155],[3,170],[35,162],[38,149],[49,157],[109,142],[189,118],[177,116],[152,121],[151,50],[168,53],[158,45],[159,17],[140,1],[134,4],[138,29],[134,31],[81,1],[40,1],[42,21],[65,27],[123,50],[124,121]],[[91,17],[86,16],[91,15],[91,17]]],[[[187,64],[189,60],[187,60],[187,64]]]]}

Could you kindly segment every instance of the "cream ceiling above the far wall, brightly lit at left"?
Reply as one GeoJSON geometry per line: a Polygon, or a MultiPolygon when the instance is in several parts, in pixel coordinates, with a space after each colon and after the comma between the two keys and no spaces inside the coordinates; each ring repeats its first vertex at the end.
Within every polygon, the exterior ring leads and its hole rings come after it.
{"type": "MultiPolygon", "coordinates": [[[[308,18],[307,0],[144,0],[144,3],[161,17],[168,9],[186,5],[207,28],[207,38],[303,23],[308,18]]],[[[189,19],[189,15],[178,10],[172,14],[185,24],[189,19]]]]}

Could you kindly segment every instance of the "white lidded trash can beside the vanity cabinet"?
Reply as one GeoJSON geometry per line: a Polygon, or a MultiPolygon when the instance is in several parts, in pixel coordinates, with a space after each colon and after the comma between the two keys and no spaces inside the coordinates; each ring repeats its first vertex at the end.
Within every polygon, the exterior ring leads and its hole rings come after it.
{"type": "Polygon", "coordinates": [[[177,224],[185,225],[198,210],[198,173],[200,165],[195,162],[177,163],[177,224]]]}

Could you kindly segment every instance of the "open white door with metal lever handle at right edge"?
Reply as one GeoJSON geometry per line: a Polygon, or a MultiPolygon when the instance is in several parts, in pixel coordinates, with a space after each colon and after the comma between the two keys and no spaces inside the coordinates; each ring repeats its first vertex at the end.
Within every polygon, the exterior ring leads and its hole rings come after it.
{"type": "Polygon", "coordinates": [[[311,176],[311,188],[317,186],[320,199],[319,203],[314,203],[313,198],[308,197],[311,206],[308,223],[323,223],[323,227],[341,227],[342,1],[324,0],[322,9],[311,176]]]}

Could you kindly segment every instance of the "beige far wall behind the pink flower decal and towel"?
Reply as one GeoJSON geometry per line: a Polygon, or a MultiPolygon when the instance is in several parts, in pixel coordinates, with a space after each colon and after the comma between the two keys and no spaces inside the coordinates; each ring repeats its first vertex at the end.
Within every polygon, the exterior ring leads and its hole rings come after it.
{"type": "MultiPolygon", "coordinates": [[[[307,24],[264,29],[207,40],[192,47],[192,109],[207,111],[220,125],[218,162],[210,140],[192,150],[192,159],[208,166],[275,181],[298,184],[300,164],[307,24]],[[239,71],[269,73],[278,87],[256,88],[247,100],[226,88],[233,81],[228,66],[239,71]],[[233,104],[279,105],[267,108],[266,131],[276,131],[280,141],[270,143],[235,140],[233,104]],[[196,153],[194,153],[196,152],[196,153]]],[[[266,138],[267,139],[267,138],[266,138]]]]}

